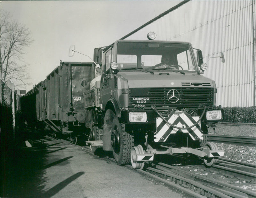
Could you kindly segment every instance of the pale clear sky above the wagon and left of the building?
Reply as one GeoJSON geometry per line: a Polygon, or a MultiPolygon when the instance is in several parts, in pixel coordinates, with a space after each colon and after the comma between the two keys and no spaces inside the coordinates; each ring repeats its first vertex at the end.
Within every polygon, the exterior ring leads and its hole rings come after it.
{"type": "MultiPolygon", "coordinates": [[[[33,85],[46,79],[60,60],[91,62],[81,54],[68,57],[71,45],[93,58],[93,49],[112,44],[181,1],[0,1],[1,12],[28,27],[33,43],[24,62],[33,85]]],[[[154,30],[152,30],[154,31],[154,30]]],[[[145,39],[146,35],[145,35],[145,39]]]]}

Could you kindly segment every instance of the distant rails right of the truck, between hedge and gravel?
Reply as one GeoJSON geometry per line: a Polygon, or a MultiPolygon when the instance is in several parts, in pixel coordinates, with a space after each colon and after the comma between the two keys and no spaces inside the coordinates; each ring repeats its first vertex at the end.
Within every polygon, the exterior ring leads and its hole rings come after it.
{"type": "Polygon", "coordinates": [[[256,137],[244,137],[244,136],[228,136],[228,135],[208,135],[208,141],[219,143],[232,143],[245,146],[255,146],[256,137]]]}

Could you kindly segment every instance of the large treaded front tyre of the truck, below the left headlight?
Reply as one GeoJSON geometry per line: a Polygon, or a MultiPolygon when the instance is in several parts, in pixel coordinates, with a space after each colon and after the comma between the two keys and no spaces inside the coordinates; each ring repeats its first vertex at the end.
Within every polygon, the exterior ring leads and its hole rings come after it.
{"type": "Polygon", "coordinates": [[[114,158],[119,165],[131,162],[131,150],[134,146],[133,136],[125,131],[124,126],[115,116],[111,128],[111,145],[114,158]]]}

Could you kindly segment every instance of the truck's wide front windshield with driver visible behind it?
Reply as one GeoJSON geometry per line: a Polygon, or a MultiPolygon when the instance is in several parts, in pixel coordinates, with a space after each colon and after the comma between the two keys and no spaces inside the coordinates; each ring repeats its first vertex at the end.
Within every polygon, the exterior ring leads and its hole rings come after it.
{"type": "Polygon", "coordinates": [[[191,51],[186,43],[119,42],[118,69],[142,68],[147,70],[173,69],[195,72],[191,51]]]}

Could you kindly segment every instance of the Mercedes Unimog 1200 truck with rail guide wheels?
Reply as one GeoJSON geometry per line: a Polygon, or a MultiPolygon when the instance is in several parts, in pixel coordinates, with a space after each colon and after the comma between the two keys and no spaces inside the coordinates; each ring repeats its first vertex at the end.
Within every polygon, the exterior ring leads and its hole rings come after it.
{"type": "Polygon", "coordinates": [[[82,82],[91,88],[84,92],[86,143],[112,150],[117,164],[135,169],[157,154],[198,156],[211,166],[224,155],[207,141],[210,127],[223,120],[215,82],[201,75],[207,69],[201,50],[195,56],[190,43],[155,36],[94,49],[96,78],[82,82]]]}

